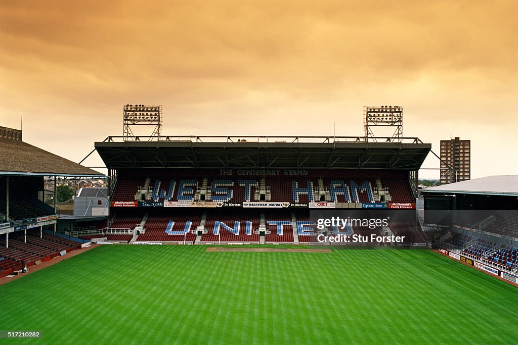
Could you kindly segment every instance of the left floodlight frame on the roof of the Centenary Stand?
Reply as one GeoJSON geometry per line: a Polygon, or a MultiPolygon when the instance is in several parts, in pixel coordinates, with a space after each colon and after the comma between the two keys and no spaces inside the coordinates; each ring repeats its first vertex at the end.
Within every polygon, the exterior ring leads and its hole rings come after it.
{"type": "Polygon", "coordinates": [[[126,104],[123,107],[123,138],[124,141],[139,141],[131,126],[152,126],[151,136],[143,136],[148,141],[160,141],[162,130],[162,106],[145,106],[143,104],[126,104]]]}

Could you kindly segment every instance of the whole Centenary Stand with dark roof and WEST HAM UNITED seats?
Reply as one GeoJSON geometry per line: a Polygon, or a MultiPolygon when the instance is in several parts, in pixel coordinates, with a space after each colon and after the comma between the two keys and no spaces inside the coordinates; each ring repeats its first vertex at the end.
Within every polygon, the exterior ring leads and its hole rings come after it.
{"type": "MultiPolygon", "coordinates": [[[[110,214],[114,215],[110,228],[121,227],[120,222],[130,217],[134,217],[130,227],[135,226],[140,217],[145,232],[137,237],[139,242],[183,242],[185,238],[189,243],[307,243],[316,241],[319,233],[309,219],[310,208],[320,208],[322,202],[337,209],[369,208],[363,204],[374,203],[383,205],[370,208],[392,208],[389,203],[406,204],[394,208],[415,208],[415,169],[429,144],[412,138],[408,145],[359,141],[329,145],[329,138],[317,139],[302,147],[300,138],[292,143],[225,138],[222,144],[199,137],[188,151],[185,143],[165,140],[160,159],[155,159],[156,147],[141,142],[121,145],[116,137],[97,142],[97,152],[115,182],[110,187],[110,214]],[[387,145],[400,150],[397,160],[387,145]],[[131,161],[121,159],[122,152],[131,161]],[[294,153],[307,160],[304,169],[294,153]],[[222,167],[222,162],[223,169],[214,168],[222,167]],[[251,168],[254,164],[260,168],[251,168]],[[147,218],[142,218],[143,211],[147,218]]],[[[403,232],[405,224],[394,223],[394,227],[403,232]]],[[[374,229],[378,235],[383,231],[374,229]]],[[[332,229],[327,233],[333,234],[332,229]]],[[[421,235],[412,239],[425,242],[421,235]]]]}

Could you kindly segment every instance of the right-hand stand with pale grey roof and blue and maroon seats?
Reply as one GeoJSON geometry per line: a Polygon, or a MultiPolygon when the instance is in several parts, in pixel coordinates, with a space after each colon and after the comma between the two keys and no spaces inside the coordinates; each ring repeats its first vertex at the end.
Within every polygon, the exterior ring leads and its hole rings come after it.
{"type": "Polygon", "coordinates": [[[496,175],[423,189],[425,220],[427,209],[442,211],[439,214],[445,221],[438,224],[443,227],[449,226],[449,220],[453,220],[450,238],[441,241],[443,236],[448,235],[442,232],[443,235],[436,238],[434,244],[438,248],[464,253],[469,258],[492,266],[495,272],[516,274],[517,182],[518,175],[496,175]],[[430,201],[428,208],[427,201],[430,201]],[[449,211],[451,209],[455,212],[449,211]]]}

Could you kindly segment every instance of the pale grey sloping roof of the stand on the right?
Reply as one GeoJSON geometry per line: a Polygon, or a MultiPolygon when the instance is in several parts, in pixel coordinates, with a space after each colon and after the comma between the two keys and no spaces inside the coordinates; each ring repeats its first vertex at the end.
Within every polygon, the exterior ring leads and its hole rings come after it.
{"type": "Polygon", "coordinates": [[[423,193],[463,193],[518,196],[518,175],[495,175],[421,189],[423,193]]]}

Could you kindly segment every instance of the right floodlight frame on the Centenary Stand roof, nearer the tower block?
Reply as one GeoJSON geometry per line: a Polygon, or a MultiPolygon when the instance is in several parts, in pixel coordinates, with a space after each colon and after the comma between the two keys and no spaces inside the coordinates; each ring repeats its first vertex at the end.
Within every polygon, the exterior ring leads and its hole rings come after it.
{"type": "Polygon", "coordinates": [[[365,141],[377,141],[372,127],[393,127],[392,137],[387,139],[390,142],[402,142],[403,140],[403,107],[381,106],[363,107],[365,118],[365,141]]]}

